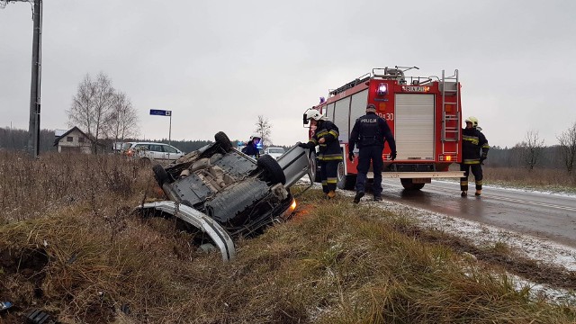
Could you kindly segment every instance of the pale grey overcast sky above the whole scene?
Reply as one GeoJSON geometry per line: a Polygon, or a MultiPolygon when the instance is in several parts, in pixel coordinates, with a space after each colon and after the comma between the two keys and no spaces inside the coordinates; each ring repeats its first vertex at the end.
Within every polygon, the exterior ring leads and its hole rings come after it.
{"type": "MultiPolygon", "coordinates": [[[[491,145],[576,122],[576,1],[43,2],[41,128],[67,129],[86,74],[103,72],[139,112],[141,137],[307,138],[302,112],[373,67],[460,71],[463,114],[491,145]]],[[[31,4],[0,10],[0,127],[28,129],[31,4]]]]}

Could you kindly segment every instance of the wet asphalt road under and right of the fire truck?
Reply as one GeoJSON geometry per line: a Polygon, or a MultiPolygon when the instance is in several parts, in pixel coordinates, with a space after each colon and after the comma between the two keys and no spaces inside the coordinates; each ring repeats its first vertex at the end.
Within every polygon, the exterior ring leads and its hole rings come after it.
{"type": "Polygon", "coordinates": [[[576,195],[484,187],[477,198],[471,188],[463,198],[457,183],[433,181],[408,192],[399,180],[383,179],[383,199],[576,247],[576,195]]]}

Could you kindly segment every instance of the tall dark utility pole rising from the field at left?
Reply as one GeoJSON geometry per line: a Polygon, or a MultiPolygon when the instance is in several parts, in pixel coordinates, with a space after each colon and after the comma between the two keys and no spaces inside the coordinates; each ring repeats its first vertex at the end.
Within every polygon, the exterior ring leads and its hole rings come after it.
{"type": "Polygon", "coordinates": [[[40,152],[40,76],[41,76],[41,43],[42,43],[42,0],[1,0],[4,8],[10,2],[32,3],[32,73],[30,84],[30,122],[28,124],[28,152],[38,157],[40,152]]]}

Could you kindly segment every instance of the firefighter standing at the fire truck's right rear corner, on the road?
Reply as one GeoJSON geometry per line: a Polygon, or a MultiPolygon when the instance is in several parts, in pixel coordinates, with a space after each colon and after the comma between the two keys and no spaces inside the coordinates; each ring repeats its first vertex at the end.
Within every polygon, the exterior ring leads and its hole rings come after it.
{"type": "Polygon", "coordinates": [[[466,128],[462,130],[462,154],[463,162],[460,164],[460,171],[464,171],[464,177],[460,178],[461,196],[468,195],[468,175],[472,169],[474,181],[476,183],[476,193],[474,195],[480,196],[482,194],[482,162],[488,157],[488,140],[482,134],[482,129],[478,127],[478,119],[476,117],[468,117],[465,120],[466,128]],[[481,155],[482,150],[482,155],[481,155]]]}

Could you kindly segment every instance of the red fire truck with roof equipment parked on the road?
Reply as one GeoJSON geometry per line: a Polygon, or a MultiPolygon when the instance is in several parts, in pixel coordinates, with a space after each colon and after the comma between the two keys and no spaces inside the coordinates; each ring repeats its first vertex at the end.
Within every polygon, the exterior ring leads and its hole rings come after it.
{"type": "MultiPolygon", "coordinates": [[[[398,178],[406,190],[420,190],[432,178],[462,177],[450,166],[462,161],[462,104],[458,70],[448,76],[406,76],[418,67],[373,68],[346,85],[329,90],[328,98],[311,107],[333,121],[340,133],[343,161],[338,166],[338,188],[353,189],[356,163],[348,160],[348,138],[356,119],[365,115],[368,103],[388,122],[396,140],[397,157],[383,150],[383,177],[398,178]]],[[[307,127],[304,112],[304,127],[307,127]]],[[[309,127],[310,137],[314,129],[309,127]]],[[[358,150],[355,148],[357,157],[358,150]]],[[[311,176],[320,181],[317,152],[311,150],[311,176]]],[[[372,170],[372,168],[371,168],[372,170]]],[[[368,179],[374,179],[372,172],[368,179]]]]}

